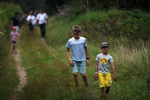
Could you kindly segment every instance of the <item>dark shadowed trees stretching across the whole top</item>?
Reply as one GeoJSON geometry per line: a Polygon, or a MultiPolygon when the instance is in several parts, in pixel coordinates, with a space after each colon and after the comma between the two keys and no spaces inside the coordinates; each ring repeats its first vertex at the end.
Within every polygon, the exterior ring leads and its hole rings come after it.
{"type": "MultiPolygon", "coordinates": [[[[58,7],[67,5],[77,11],[89,12],[91,10],[109,10],[112,7],[116,9],[150,11],[149,0],[1,0],[3,2],[15,3],[21,5],[24,12],[30,10],[44,9],[49,14],[56,14],[58,7]]],[[[74,10],[74,11],[75,11],[74,10]]],[[[76,12],[76,11],[75,11],[76,12]]],[[[73,12],[72,12],[73,13],[73,12]]]]}

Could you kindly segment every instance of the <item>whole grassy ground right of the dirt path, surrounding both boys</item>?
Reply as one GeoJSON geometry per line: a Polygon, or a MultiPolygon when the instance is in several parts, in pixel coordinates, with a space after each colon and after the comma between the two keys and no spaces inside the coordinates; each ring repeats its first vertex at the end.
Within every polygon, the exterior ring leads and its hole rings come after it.
{"type": "Polygon", "coordinates": [[[34,36],[30,36],[27,26],[21,28],[18,45],[28,80],[23,92],[20,93],[19,100],[99,99],[101,92],[94,79],[95,58],[101,52],[99,45],[104,40],[110,43],[109,54],[114,59],[117,75],[117,81],[113,81],[109,93],[109,100],[149,100],[150,44],[136,40],[134,41],[136,44],[131,45],[127,37],[113,37],[111,40],[109,36],[101,36],[90,41],[87,39],[90,57],[87,77],[90,87],[84,86],[79,75],[80,85],[75,88],[72,68],[68,66],[65,54],[65,45],[72,37],[72,25],[77,24],[78,21],[69,23],[66,20],[68,19],[61,20],[56,17],[49,19],[46,30],[47,46],[40,41],[38,27],[35,27],[34,36]]]}

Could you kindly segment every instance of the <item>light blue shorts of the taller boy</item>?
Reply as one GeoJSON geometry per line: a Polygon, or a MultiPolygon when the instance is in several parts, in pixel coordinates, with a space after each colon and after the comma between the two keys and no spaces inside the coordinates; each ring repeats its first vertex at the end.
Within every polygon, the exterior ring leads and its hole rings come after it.
{"type": "Polygon", "coordinates": [[[73,73],[78,72],[79,68],[79,73],[80,74],[86,74],[86,65],[85,61],[73,61],[74,62],[74,67],[73,67],[73,73]]]}

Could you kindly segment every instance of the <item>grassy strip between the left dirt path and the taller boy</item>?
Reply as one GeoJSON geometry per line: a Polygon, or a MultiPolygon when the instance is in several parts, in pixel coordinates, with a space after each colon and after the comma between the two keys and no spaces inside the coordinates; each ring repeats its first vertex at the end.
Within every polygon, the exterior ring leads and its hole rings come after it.
{"type": "MultiPolygon", "coordinates": [[[[64,53],[60,54],[55,48],[43,45],[39,32],[36,31],[36,34],[31,37],[28,33],[24,34],[25,30],[27,27],[24,26],[20,32],[22,36],[19,48],[22,66],[28,73],[28,80],[27,86],[23,88],[24,92],[20,93],[21,100],[76,100],[77,98],[91,100],[98,98],[95,96],[95,93],[98,92],[93,92],[92,88],[88,89],[84,86],[81,76],[79,76],[80,86],[75,88],[72,70],[66,63],[64,53]],[[88,97],[88,95],[91,96],[88,97]]],[[[64,49],[63,47],[59,50],[64,51],[64,49]]]]}

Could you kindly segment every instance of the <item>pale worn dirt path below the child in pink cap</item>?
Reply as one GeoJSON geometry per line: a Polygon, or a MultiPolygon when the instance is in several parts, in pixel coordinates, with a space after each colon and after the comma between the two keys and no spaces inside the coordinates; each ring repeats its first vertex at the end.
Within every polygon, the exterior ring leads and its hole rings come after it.
{"type": "Polygon", "coordinates": [[[15,89],[16,92],[12,93],[12,97],[10,100],[16,100],[17,99],[17,92],[23,92],[22,88],[27,83],[27,73],[23,67],[21,67],[21,59],[20,59],[20,51],[17,50],[18,54],[13,54],[14,60],[16,61],[16,67],[17,67],[17,74],[19,76],[20,83],[15,89]]]}

